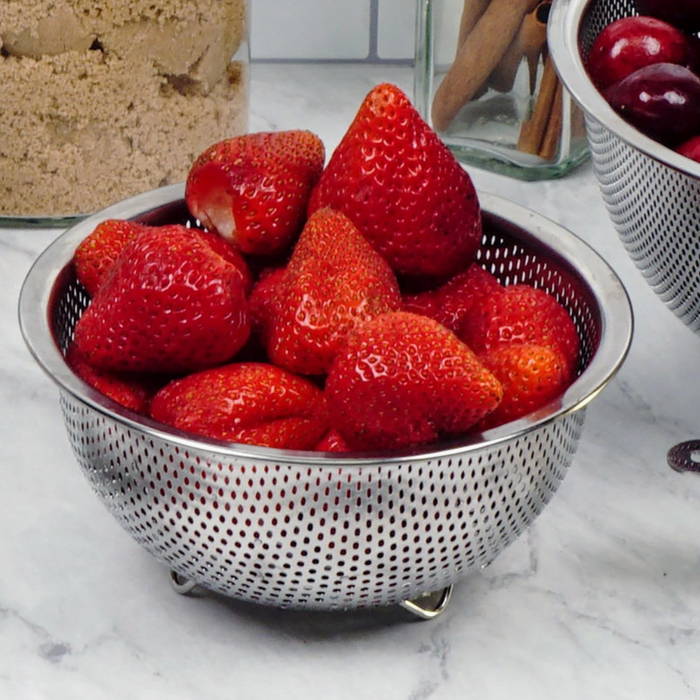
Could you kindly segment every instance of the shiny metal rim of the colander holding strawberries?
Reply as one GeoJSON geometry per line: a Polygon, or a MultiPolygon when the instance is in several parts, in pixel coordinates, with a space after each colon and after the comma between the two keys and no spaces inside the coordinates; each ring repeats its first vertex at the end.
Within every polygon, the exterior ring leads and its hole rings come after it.
{"type": "Polygon", "coordinates": [[[184,183],[144,192],[107,207],[67,228],[34,261],[22,284],[19,326],[25,344],[37,364],[58,386],[93,410],[136,432],[176,444],[184,450],[235,459],[257,459],[290,464],[348,467],[350,465],[396,464],[407,459],[449,459],[470,452],[489,450],[577,412],[588,405],[613,379],[625,361],[633,335],[633,312],[627,291],[608,263],[586,242],[551,219],[499,196],[478,192],[482,211],[500,218],[536,238],[564,259],[587,282],[601,317],[600,340],[591,362],[566,392],[534,415],[504,426],[471,435],[466,439],[427,445],[419,450],[352,454],[282,450],[200,439],[170,429],[150,418],[133,413],[96,391],[67,366],[51,331],[49,310],[59,276],[78,243],[101,221],[111,218],[147,216],[164,207],[182,204],[184,183]],[[528,226],[528,228],[526,228],[528,226]],[[37,310],[40,313],[37,313],[37,310]]]}

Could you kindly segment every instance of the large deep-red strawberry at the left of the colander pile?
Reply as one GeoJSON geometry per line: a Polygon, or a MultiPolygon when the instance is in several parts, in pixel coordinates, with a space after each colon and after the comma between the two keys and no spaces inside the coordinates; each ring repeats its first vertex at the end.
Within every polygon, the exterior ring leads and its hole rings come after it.
{"type": "Polygon", "coordinates": [[[238,270],[184,226],[129,242],[75,327],[102,370],[180,373],[230,360],[250,332],[238,270]]]}

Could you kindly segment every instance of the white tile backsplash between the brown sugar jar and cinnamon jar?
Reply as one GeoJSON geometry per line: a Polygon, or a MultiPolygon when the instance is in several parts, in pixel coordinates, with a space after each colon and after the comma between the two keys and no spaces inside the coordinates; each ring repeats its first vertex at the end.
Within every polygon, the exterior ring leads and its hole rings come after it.
{"type": "Polygon", "coordinates": [[[253,60],[413,59],[415,0],[250,0],[253,60]]]}

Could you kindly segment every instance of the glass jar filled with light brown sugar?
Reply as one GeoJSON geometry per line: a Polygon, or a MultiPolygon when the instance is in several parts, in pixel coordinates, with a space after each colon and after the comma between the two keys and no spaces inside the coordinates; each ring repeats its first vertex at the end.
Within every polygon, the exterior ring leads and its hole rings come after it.
{"type": "Polygon", "coordinates": [[[185,179],[248,128],[248,0],[2,0],[0,225],[185,179]]]}

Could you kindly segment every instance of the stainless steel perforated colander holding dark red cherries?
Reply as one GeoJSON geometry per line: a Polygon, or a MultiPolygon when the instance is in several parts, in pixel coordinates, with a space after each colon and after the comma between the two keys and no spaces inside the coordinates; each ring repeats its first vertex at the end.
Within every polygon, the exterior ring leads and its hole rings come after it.
{"type": "Polygon", "coordinates": [[[636,14],[634,0],[557,0],[549,48],[586,116],[593,170],[625,249],[667,307],[700,333],[700,163],[627,124],[585,68],[603,27],[636,14]]]}

